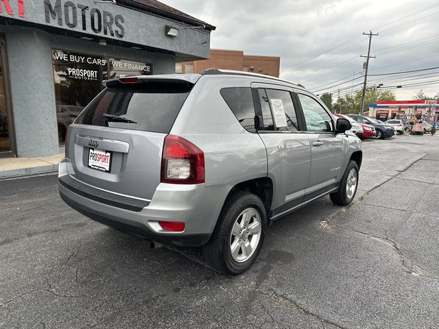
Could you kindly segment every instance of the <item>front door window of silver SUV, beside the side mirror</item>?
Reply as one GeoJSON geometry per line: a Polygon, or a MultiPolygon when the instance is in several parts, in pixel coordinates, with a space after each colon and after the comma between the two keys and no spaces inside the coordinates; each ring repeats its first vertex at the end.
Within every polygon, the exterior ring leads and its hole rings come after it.
{"type": "Polygon", "coordinates": [[[305,122],[307,123],[307,131],[332,132],[333,123],[331,116],[320,106],[316,99],[302,94],[298,94],[298,97],[302,104],[305,122]]]}

